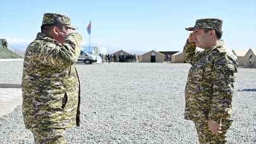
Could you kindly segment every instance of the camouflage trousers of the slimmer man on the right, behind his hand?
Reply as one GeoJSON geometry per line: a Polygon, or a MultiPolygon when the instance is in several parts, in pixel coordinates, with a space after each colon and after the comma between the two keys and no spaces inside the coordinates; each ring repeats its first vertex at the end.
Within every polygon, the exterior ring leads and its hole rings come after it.
{"type": "Polygon", "coordinates": [[[229,120],[222,120],[222,133],[215,135],[210,131],[208,126],[208,119],[203,118],[196,121],[193,121],[195,123],[195,128],[197,129],[197,135],[199,142],[202,143],[210,143],[210,144],[221,144],[221,143],[227,143],[227,136],[226,133],[228,129],[230,128],[232,121],[229,120]]]}

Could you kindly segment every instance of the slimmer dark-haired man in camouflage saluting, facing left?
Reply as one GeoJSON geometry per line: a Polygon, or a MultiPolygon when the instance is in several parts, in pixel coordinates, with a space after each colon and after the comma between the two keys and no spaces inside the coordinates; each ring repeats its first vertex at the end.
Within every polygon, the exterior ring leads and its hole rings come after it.
{"type": "Polygon", "coordinates": [[[226,143],[237,58],[220,40],[222,20],[200,19],[186,30],[193,32],[183,49],[185,61],[192,65],[185,88],[185,119],[195,123],[200,143],[226,143]]]}

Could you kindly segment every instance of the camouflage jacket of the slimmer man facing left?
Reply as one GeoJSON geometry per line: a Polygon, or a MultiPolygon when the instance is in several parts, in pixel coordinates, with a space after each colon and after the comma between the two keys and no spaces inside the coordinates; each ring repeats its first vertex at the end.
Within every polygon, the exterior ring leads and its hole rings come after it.
{"type": "Polygon", "coordinates": [[[185,61],[192,65],[185,88],[185,119],[231,119],[236,56],[226,51],[222,40],[202,52],[187,41],[183,52],[185,61]]]}

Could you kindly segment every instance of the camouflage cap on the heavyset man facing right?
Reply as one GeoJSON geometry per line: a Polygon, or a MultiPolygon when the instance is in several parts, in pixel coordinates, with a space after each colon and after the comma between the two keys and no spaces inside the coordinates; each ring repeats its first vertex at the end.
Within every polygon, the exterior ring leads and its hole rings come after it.
{"type": "Polygon", "coordinates": [[[76,29],[77,27],[71,26],[71,21],[68,16],[57,13],[45,13],[42,20],[42,25],[65,25],[66,27],[76,29]]]}

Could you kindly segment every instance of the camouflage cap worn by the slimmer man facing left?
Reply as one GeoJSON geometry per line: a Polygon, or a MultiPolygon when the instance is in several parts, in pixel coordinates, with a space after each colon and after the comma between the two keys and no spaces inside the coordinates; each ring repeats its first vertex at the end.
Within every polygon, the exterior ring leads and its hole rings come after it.
{"type": "Polygon", "coordinates": [[[217,19],[217,18],[199,19],[195,22],[194,27],[188,27],[188,28],[185,28],[185,29],[188,30],[188,31],[194,31],[197,28],[222,30],[222,20],[217,19]]]}

